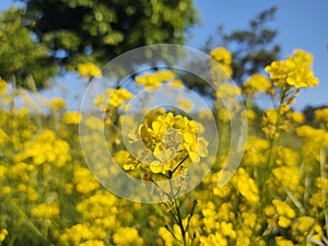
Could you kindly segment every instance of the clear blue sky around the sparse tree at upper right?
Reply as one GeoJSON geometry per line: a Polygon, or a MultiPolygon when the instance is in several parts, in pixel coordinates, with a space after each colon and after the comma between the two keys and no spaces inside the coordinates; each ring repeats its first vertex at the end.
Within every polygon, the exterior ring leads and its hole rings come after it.
{"type": "MultiPolygon", "coordinates": [[[[11,0],[1,0],[0,9],[13,4],[11,0]]],[[[202,24],[190,30],[188,46],[200,48],[210,35],[215,35],[218,25],[226,31],[247,27],[248,21],[260,11],[272,5],[278,7],[276,20],[271,25],[278,30],[277,43],[281,45],[284,58],[293,49],[301,48],[315,57],[314,71],[319,85],[300,93],[296,108],[305,105],[328,105],[328,1],[327,0],[196,0],[202,24]]],[[[65,81],[63,83],[68,83],[65,81]]],[[[52,90],[51,93],[58,93],[52,90]]]]}

